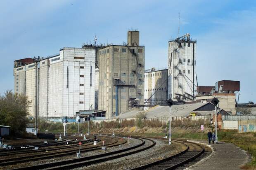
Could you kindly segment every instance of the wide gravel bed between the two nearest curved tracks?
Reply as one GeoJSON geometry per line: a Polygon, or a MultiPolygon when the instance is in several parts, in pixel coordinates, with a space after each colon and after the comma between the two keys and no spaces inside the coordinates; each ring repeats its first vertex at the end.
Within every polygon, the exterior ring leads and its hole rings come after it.
{"type": "MultiPolygon", "coordinates": [[[[95,165],[89,165],[86,167],[76,168],[75,170],[126,170],[136,168],[147,163],[157,161],[159,159],[166,158],[168,156],[177,154],[183,148],[180,143],[173,142],[172,145],[168,145],[168,141],[154,140],[156,145],[150,149],[139,152],[137,154],[117,158],[111,161],[98,163],[95,165]]],[[[150,145],[152,142],[146,142],[145,146],[150,145]]]]}

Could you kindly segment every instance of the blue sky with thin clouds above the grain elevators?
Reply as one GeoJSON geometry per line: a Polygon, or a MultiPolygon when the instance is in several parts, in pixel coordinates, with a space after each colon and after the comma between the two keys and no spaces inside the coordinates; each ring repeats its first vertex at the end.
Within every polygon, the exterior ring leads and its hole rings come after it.
{"type": "Polygon", "coordinates": [[[168,40],[197,39],[201,86],[240,81],[240,101],[256,102],[256,1],[254,0],[3,0],[0,4],[0,93],[14,88],[13,61],[59,53],[83,42],[120,44],[140,30],[145,68],[167,67],[168,40]]]}

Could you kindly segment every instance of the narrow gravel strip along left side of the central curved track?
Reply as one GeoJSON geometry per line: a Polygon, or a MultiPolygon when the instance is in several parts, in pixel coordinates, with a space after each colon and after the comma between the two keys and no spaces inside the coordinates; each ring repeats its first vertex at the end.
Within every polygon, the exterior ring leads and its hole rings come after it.
{"type": "MultiPolygon", "coordinates": [[[[112,139],[105,139],[104,141],[107,142],[107,140],[109,140],[109,143],[113,142],[112,139]]],[[[136,144],[139,144],[141,141],[133,139],[130,142],[131,142],[131,145],[123,144],[122,148],[134,146],[136,144]]],[[[101,142],[99,143],[99,146],[102,146],[101,142]]],[[[119,146],[117,146],[117,147],[106,147],[106,148],[107,148],[106,151],[98,149],[98,150],[95,150],[95,151],[88,151],[88,152],[81,153],[81,157],[103,154],[103,153],[106,153],[106,152],[116,151],[116,150],[120,149],[119,146]]],[[[82,149],[82,147],[81,147],[81,149],[82,149]]],[[[75,158],[77,158],[76,154],[72,154],[70,156],[63,156],[63,157],[58,157],[58,158],[42,159],[42,160],[38,160],[38,161],[29,161],[29,162],[26,162],[26,163],[20,163],[18,165],[7,165],[7,166],[4,166],[4,167],[0,167],[0,170],[1,170],[1,168],[2,169],[20,168],[20,167],[24,167],[24,166],[40,165],[40,164],[52,163],[52,162],[58,162],[58,161],[65,161],[65,160],[70,160],[70,159],[75,159],[75,158]]]]}

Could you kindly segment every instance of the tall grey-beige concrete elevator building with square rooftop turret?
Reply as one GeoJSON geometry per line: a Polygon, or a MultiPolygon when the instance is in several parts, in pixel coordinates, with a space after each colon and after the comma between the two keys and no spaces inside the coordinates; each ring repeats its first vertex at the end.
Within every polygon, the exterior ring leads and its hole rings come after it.
{"type": "Polygon", "coordinates": [[[131,100],[144,104],[145,47],[139,31],[128,31],[127,44],[97,50],[99,67],[98,108],[111,119],[128,110],[131,100]]]}

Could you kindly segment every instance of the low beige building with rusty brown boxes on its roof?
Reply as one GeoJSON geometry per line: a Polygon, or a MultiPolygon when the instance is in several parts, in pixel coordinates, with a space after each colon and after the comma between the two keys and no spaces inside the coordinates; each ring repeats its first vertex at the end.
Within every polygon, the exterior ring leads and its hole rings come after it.
{"type": "Polygon", "coordinates": [[[220,100],[219,107],[226,112],[236,114],[235,92],[240,91],[240,82],[222,80],[216,82],[216,86],[197,86],[197,103],[211,102],[213,98],[220,100]]]}

